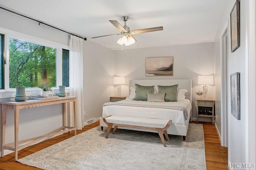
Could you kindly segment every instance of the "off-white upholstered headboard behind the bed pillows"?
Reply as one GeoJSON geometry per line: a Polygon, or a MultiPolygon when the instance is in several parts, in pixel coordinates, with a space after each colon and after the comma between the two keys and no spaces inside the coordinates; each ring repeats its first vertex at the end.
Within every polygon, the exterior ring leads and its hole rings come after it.
{"type": "Polygon", "coordinates": [[[134,87],[135,83],[140,84],[142,86],[171,86],[174,84],[179,85],[179,89],[186,89],[188,92],[186,92],[185,96],[186,99],[190,100],[192,103],[192,80],[191,79],[165,79],[165,80],[130,80],[129,82],[129,88],[134,87]]]}

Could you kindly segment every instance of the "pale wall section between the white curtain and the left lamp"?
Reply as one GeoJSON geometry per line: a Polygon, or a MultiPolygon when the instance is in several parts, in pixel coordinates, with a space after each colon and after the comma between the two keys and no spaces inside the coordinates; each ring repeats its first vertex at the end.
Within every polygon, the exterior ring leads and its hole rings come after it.
{"type": "Polygon", "coordinates": [[[84,42],[84,121],[102,117],[102,104],[113,91],[114,50],[84,42]],[[87,115],[88,114],[88,115],[87,115]]]}

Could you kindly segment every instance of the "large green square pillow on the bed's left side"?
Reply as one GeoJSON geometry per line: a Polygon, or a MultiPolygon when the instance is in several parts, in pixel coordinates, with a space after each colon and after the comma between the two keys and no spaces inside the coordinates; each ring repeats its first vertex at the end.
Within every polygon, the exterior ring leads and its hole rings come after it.
{"type": "Polygon", "coordinates": [[[154,86],[140,86],[139,84],[135,83],[135,98],[132,100],[148,100],[147,93],[153,93],[154,86]]]}

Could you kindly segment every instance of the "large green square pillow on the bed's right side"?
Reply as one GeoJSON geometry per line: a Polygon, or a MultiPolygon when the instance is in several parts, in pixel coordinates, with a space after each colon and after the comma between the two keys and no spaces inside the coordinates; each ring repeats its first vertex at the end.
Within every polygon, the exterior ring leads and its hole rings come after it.
{"type": "Polygon", "coordinates": [[[158,93],[166,93],[164,100],[166,102],[177,102],[176,96],[177,96],[177,90],[178,90],[178,84],[175,84],[173,86],[160,86],[158,85],[158,93]]]}

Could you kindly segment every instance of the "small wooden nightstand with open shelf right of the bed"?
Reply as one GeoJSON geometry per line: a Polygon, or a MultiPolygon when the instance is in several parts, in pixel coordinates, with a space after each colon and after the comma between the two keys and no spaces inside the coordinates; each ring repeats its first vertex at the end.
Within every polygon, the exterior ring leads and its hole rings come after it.
{"type": "Polygon", "coordinates": [[[215,100],[196,99],[196,101],[197,101],[197,123],[198,123],[198,117],[212,117],[212,124],[214,124],[215,100]]]}

